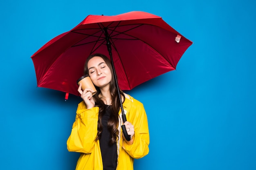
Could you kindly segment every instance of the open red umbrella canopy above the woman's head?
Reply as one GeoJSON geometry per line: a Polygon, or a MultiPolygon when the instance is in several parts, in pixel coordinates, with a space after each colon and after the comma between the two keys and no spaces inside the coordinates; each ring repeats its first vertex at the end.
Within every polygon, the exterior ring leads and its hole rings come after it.
{"type": "Polygon", "coordinates": [[[88,15],[32,55],[38,87],[79,95],[76,80],[83,75],[85,60],[94,53],[108,56],[106,39],[111,44],[121,90],[175,70],[192,44],[161,17],[150,13],[88,15]]]}

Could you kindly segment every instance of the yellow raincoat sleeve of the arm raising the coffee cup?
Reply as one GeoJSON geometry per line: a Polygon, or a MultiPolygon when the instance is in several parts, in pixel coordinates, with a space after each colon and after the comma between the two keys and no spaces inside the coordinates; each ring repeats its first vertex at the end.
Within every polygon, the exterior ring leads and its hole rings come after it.
{"type": "Polygon", "coordinates": [[[84,102],[78,105],[76,120],[67,139],[67,150],[70,152],[91,153],[97,136],[99,108],[87,109],[84,102]]]}

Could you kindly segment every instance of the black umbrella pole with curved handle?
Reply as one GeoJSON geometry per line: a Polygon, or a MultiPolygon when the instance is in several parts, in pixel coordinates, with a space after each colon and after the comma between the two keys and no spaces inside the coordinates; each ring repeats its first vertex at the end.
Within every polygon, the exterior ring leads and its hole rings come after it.
{"type": "MultiPolygon", "coordinates": [[[[115,77],[115,82],[116,82],[117,92],[118,92],[118,96],[119,96],[119,101],[120,101],[120,105],[121,105],[122,119],[123,119],[123,122],[126,122],[126,115],[124,114],[124,107],[123,107],[123,104],[122,104],[122,99],[121,99],[119,86],[118,86],[118,82],[117,82],[117,75],[116,75],[116,71],[115,71],[114,61],[113,61],[113,58],[112,58],[112,49],[111,49],[111,43],[110,43],[110,40],[109,40],[109,35],[108,35],[107,28],[104,28],[104,31],[105,31],[106,41],[107,41],[108,53],[110,55],[110,60],[111,60],[113,73],[114,73],[114,77],[115,77]]],[[[122,130],[123,130],[125,139],[127,141],[130,141],[130,135],[128,135],[125,125],[122,125],[121,127],[122,127],[122,130]]]]}

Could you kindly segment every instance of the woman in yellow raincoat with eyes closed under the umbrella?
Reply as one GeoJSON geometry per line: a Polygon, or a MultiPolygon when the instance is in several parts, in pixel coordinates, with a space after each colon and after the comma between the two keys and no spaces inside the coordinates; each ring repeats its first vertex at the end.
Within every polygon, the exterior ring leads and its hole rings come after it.
{"type": "Polygon", "coordinates": [[[143,104],[120,91],[127,121],[120,118],[121,109],[113,69],[108,57],[90,55],[84,73],[90,75],[92,89],[78,91],[83,101],[76,111],[67,149],[81,152],[76,170],[133,170],[134,159],[148,154],[148,121],[143,104]],[[126,125],[131,140],[126,141],[121,125],[126,125]]]}

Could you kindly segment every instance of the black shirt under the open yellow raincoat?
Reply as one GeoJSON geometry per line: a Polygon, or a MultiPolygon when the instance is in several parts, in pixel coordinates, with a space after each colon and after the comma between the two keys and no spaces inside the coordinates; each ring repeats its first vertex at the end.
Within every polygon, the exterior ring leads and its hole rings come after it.
{"type": "Polygon", "coordinates": [[[109,144],[111,139],[108,131],[108,119],[111,114],[111,106],[107,106],[106,112],[103,114],[101,123],[103,126],[99,144],[101,148],[101,157],[103,162],[103,170],[115,170],[117,168],[117,142],[113,145],[109,144]]]}

